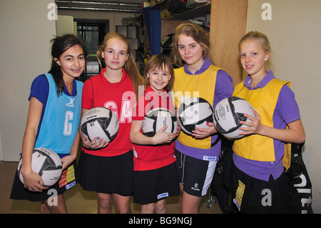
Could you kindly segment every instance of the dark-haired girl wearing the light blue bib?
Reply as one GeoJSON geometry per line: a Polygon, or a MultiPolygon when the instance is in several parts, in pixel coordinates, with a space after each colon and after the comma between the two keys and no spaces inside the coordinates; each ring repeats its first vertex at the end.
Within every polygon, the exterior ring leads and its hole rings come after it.
{"type": "Polygon", "coordinates": [[[22,143],[21,174],[15,176],[11,199],[40,201],[41,213],[67,213],[63,192],[76,184],[76,154],[79,143],[83,83],[75,80],[86,66],[86,48],[76,36],[57,36],[52,42],[49,74],[34,79],[29,96],[29,113],[22,143]],[[67,124],[66,124],[67,123],[67,124]],[[51,149],[61,158],[68,182],[56,182],[49,193],[43,180],[31,169],[34,148],[51,149]],[[55,199],[52,199],[56,196],[55,199]],[[48,203],[49,197],[51,204],[48,203]]]}

